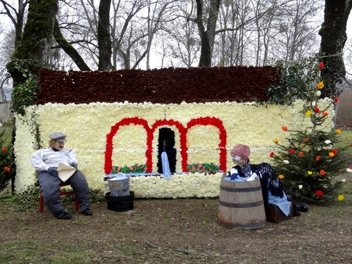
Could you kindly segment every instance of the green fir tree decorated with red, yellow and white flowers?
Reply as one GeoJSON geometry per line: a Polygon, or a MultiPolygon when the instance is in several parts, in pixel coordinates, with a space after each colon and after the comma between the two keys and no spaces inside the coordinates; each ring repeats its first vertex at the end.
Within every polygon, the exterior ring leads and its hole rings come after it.
{"type": "MultiPolygon", "coordinates": [[[[326,203],[333,199],[344,199],[341,194],[344,180],[336,177],[344,172],[352,172],[347,168],[347,158],[344,150],[352,146],[336,148],[340,140],[341,130],[329,130],[324,122],[331,122],[329,112],[333,113],[335,99],[321,99],[324,82],[320,70],[323,63],[317,63],[310,75],[316,76],[316,82],[308,85],[306,91],[307,103],[301,111],[302,118],[309,118],[311,125],[302,130],[290,130],[283,126],[287,132],[288,145],[280,144],[274,140],[279,151],[270,153],[274,159],[273,168],[282,179],[287,194],[310,203],[326,203]],[[329,103],[327,103],[329,101],[329,103]]],[[[330,126],[331,127],[331,126],[330,126]]]]}

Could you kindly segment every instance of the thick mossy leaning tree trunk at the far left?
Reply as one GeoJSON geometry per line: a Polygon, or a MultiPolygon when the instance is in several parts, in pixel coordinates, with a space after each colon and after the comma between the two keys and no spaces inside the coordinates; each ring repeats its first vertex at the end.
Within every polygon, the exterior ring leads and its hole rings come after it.
{"type": "Polygon", "coordinates": [[[53,38],[54,21],[58,11],[58,0],[30,0],[27,23],[20,44],[13,52],[11,62],[6,65],[13,77],[13,84],[20,84],[27,79],[15,68],[15,61],[32,61],[27,63],[27,70],[39,76],[41,67],[49,61],[49,49],[53,38]]]}

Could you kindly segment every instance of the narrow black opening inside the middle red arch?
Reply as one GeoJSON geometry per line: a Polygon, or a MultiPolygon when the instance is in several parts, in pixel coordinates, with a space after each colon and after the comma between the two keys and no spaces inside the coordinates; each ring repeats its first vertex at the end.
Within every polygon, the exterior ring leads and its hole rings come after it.
{"type": "Polygon", "coordinates": [[[158,172],[163,173],[163,163],[161,161],[161,153],[163,151],[168,155],[170,172],[176,172],[176,149],[175,149],[175,132],[168,127],[159,129],[158,137],[158,172]]]}

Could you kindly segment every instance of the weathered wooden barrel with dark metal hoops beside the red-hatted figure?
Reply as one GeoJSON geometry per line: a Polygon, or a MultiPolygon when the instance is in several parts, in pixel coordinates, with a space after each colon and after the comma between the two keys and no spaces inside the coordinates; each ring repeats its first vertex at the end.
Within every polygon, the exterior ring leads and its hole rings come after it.
{"type": "Polygon", "coordinates": [[[234,182],[221,179],[218,224],[255,230],[266,224],[260,180],[234,182]]]}

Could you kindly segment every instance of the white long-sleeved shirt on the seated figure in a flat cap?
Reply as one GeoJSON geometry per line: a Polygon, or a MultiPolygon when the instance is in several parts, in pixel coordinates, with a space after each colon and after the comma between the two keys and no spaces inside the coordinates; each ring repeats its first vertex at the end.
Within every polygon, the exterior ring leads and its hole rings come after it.
{"type": "Polygon", "coordinates": [[[74,149],[63,149],[61,151],[54,151],[51,147],[46,149],[39,149],[30,156],[30,161],[33,167],[38,171],[48,170],[49,167],[58,167],[58,163],[70,165],[76,163],[77,158],[74,149]]]}

